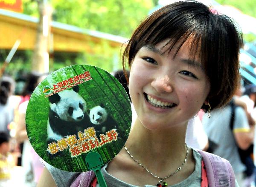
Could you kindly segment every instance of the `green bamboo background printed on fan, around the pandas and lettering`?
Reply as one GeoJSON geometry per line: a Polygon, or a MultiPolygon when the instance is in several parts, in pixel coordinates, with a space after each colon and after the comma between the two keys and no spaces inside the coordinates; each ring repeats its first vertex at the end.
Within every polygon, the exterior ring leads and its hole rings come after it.
{"type": "Polygon", "coordinates": [[[93,151],[97,151],[102,156],[103,162],[108,163],[122,149],[131,129],[131,104],[128,95],[111,74],[90,65],[72,65],[53,72],[37,86],[29,100],[26,111],[26,130],[36,153],[44,161],[61,170],[87,171],[85,157],[89,152],[72,158],[68,148],[62,151],[61,157],[49,158],[46,141],[49,99],[44,97],[42,89],[45,85],[52,86],[65,79],[83,74],[85,71],[90,72],[92,79],[79,85],[79,94],[86,101],[87,109],[103,103],[108,115],[111,115],[119,129],[125,132],[125,138],[106,143],[93,151]]]}

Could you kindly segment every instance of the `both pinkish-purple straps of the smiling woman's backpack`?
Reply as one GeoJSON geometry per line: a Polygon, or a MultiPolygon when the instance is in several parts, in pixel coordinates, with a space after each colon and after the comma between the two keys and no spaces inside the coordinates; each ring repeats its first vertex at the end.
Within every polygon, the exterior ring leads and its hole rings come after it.
{"type": "MultiPolygon", "coordinates": [[[[235,174],[229,161],[202,150],[197,151],[203,157],[201,187],[236,186],[235,174]]],[[[70,187],[96,187],[96,180],[93,171],[82,172],[70,187]]]]}

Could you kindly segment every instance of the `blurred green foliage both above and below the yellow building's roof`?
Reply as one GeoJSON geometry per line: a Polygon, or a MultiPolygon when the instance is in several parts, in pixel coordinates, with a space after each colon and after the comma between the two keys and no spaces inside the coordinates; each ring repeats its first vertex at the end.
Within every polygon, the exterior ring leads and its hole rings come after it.
{"type": "MultiPolygon", "coordinates": [[[[157,0],[48,0],[54,9],[52,20],[122,37],[131,36],[156,2],[157,0]]],[[[39,16],[35,0],[23,0],[23,8],[24,14],[39,16]]],[[[63,53],[61,59],[53,58],[53,62],[50,61],[50,72],[73,64],[95,65],[109,72],[122,68],[120,49],[114,49],[104,41],[100,45],[93,42],[90,45],[95,51],[93,54],[76,54],[74,58],[63,53]]]]}

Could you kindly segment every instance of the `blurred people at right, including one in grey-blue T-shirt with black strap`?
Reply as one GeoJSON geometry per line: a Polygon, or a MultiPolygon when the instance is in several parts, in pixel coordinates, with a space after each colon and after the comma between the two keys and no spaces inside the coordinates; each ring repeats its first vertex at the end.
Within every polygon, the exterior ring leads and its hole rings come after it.
{"type": "Polygon", "coordinates": [[[255,185],[253,140],[256,120],[256,85],[241,85],[226,106],[202,116],[207,151],[227,159],[240,187],[255,185]]]}

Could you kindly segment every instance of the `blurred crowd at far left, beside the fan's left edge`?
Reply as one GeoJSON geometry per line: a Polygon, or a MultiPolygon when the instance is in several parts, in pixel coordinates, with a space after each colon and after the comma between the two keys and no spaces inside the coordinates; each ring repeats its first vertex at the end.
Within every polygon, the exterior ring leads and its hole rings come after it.
{"type": "Polygon", "coordinates": [[[26,133],[26,107],[45,74],[0,78],[0,186],[35,187],[44,165],[26,133]]]}

